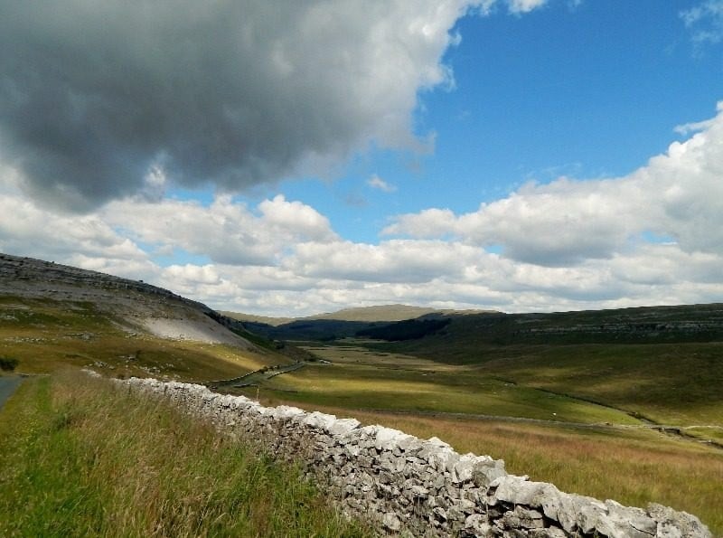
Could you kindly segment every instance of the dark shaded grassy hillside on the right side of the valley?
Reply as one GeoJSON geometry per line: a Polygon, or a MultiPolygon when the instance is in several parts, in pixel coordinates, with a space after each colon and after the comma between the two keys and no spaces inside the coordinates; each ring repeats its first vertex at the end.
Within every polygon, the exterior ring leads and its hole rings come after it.
{"type": "MultiPolygon", "coordinates": [[[[722,313],[721,305],[697,305],[465,316],[436,335],[374,347],[474,367],[663,424],[723,427],[722,313]]],[[[708,436],[721,434],[709,429],[708,436]]]]}

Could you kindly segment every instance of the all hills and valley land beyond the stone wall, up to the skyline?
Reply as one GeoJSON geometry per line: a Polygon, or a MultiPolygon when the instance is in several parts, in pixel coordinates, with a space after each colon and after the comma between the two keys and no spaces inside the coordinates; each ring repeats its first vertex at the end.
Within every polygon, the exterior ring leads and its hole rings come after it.
{"type": "Polygon", "coordinates": [[[18,373],[70,366],[209,382],[437,436],[583,495],[671,505],[714,533],[723,533],[721,312],[393,306],[261,324],[143,282],[0,255],[0,358],[18,373]]]}

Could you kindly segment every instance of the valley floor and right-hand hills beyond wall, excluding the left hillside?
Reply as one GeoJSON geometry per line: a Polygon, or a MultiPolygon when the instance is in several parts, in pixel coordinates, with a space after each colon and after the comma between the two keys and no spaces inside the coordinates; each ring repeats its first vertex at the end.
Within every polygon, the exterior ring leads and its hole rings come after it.
{"type": "Polygon", "coordinates": [[[265,332],[324,363],[235,391],[437,435],[584,495],[665,499],[723,532],[723,305],[334,323],[265,332]]]}

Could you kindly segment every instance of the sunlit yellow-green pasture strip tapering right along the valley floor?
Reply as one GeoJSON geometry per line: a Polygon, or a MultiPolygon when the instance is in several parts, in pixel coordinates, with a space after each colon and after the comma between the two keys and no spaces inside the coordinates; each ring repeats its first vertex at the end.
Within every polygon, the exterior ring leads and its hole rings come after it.
{"type": "MultiPolygon", "coordinates": [[[[569,422],[638,424],[624,412],[564,395],[540,392],[481,375],[473,369],[435,364],[406,355],[379,354],[359,346],[315,346],[332,364],[264,382],[266,391],[307,404],[347,409],[467,413],[569,422]]],[[[253,389],[250,389],[252,393],[253,389]]]]}

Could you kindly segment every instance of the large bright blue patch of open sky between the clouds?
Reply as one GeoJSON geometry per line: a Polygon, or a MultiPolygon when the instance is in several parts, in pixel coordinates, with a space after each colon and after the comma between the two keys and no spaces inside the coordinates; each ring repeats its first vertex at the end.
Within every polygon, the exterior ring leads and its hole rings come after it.
{"type": "Polygon", "coordinates": [[[454,87],[419,94],[415,130],[435,134],[433,152],[372,150],[331,182],[294,177],[258,194],[286,193],[343,237],[376,242],[390,214],[469,212],[531,181],[629,174],[723,96],[723,47],[696,45],[681,16],[697,5],[558,1],[468,14],[443,60],[454,87]],[[372,189],[374,175],[393,192],[372,189]]]}

